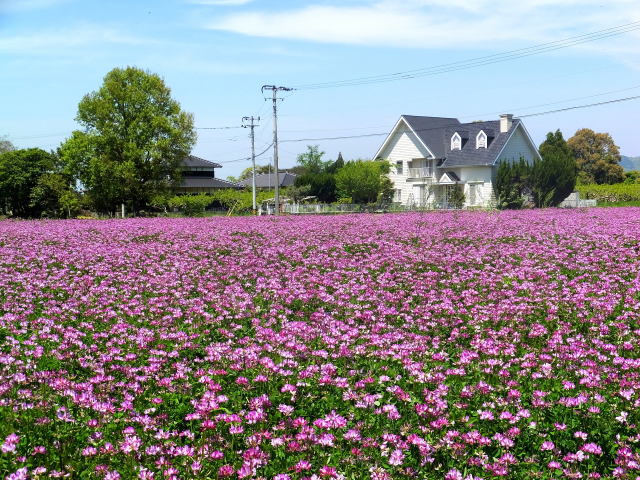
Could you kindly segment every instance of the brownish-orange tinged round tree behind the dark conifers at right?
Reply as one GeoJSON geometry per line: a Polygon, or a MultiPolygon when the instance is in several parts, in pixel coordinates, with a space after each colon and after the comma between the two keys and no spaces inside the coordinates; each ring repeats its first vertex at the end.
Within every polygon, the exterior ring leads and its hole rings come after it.
{"type": "Polygon", "coordinates": [[[624,180],[620,150],[608,133],[582,128],[567,140],[567,144],[576,159],[580,183],[619,183],[624,180]]]}

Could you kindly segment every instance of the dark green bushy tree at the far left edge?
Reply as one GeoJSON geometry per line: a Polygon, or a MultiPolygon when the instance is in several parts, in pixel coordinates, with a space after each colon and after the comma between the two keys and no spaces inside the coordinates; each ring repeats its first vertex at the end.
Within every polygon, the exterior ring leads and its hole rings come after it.
{"type": "Polygon", "coordinates": [[[42,182],[52,174],[55,155],[39,148],[13,150],[0,154],[0,210],[19,217],[40,217],[47,207],[38,197],[42,182]],[[38,188],[36,188],[38,187],[38,188]],[[36,195],[35,198],[32,194],[36,195]]]}

